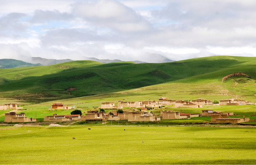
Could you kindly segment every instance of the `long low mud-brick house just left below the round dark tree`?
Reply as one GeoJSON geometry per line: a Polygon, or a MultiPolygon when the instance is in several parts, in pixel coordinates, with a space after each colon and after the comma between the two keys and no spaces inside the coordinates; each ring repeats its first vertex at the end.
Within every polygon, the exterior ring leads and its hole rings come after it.
{"type": "Polygon", "coordinates": [[[45,116],[44,121],[76,121],[80,120],[81,115],[57,115],[45,116]]]}

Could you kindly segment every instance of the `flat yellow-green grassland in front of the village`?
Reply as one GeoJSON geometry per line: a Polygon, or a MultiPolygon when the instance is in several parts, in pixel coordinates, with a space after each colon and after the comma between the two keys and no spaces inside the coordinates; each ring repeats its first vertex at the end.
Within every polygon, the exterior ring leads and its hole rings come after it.
{"type": "Polygon", "coordinates": [[[255,128],[90,127],[1,126],[0,164],[256,164],[255,128]]]}

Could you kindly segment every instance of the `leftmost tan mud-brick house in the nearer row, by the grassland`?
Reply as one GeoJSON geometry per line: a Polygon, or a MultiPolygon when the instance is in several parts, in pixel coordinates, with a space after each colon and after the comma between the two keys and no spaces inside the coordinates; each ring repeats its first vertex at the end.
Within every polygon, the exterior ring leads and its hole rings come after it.
{"type": "Polygon", "coordinates": [[[29,122],[36,119],[28,118],[24,113],[16,114],[16,112],[8,112],[5,114],[5,122],[29,122]]]}

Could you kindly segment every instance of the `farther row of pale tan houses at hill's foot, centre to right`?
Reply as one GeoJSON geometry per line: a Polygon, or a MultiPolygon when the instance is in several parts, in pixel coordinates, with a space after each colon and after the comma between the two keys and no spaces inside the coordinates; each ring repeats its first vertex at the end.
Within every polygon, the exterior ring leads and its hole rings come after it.
{"type": "MultiPolygon", "coordinates": [[[[220,100],[218,105],[246,105],[251,102],[240,99],[220,100]]],[[[204,105],[215,105],[213,101],[206,99],[195,99],[191,101],[173,100],[161,97],[158,101],[118,101],[101,103],[103,109],[122,109],[122,108],[142,108],[142,107],[162,107],[165,105],[173,105],[175,108],[202,108],[204,105]]]]}

